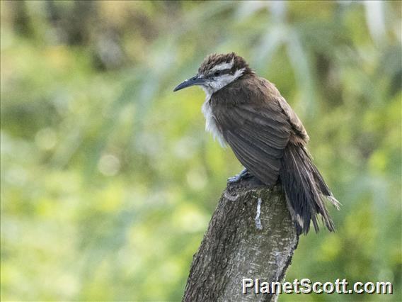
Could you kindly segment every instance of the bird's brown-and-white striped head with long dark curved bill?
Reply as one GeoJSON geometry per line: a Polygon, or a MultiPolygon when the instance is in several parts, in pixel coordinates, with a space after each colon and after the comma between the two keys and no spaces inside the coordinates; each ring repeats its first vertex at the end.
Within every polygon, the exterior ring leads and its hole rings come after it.
{"type": "Polygon", "coordinates": [[[213,54],[205,58],[195,77],[186,79],[173,91],[198,85],[204,89],[207,96],[222,89],[243,75],[252,74],[253,71],[239,55],[234,52],[228,54],[213,54]]]}

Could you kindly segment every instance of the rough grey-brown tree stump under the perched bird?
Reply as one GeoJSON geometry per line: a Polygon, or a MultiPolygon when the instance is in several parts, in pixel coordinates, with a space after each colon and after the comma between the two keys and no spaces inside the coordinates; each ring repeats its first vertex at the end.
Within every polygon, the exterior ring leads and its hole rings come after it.
{"type": "Polygon", "coordinates": [[[243,278],[285,279],[298,241],[282,186],[253,178],[228,185],[193,257],[183,301],[276,301],[255,289],[244,294],[243,278]]]}

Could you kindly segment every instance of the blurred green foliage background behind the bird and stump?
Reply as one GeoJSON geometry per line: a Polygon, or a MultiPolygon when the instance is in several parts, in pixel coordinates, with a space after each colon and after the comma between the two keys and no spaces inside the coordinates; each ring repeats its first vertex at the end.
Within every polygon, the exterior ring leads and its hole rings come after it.
{"type": "Polygon", "coordinates": [[[304,121],[337,233],[287,280],[392,281],[401,301],[401,2],[1,1],[1,300],[177,301],[226,178],[201,89],[235,51],[304,121]]]}

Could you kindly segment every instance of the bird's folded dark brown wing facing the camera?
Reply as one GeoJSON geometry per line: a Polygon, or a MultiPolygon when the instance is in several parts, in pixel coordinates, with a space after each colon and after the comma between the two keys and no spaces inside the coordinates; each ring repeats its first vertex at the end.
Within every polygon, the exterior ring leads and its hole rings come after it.
{"type": "Polygon", "coordinates": [[[275,184],[289,141],[289,123],[282,111],[275,112],[269,105],[260,111],[251,106],[238,104],[231,111],[214,112],[214,116],[241,164],[265,184],[275,184]]]}

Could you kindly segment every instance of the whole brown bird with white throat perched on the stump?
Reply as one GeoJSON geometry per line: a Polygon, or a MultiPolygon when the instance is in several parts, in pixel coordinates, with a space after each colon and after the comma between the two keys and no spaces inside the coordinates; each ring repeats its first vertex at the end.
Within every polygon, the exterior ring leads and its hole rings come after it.
{"type": "Polygon", "coordinates": [[[229,145],[244,169],[228,179],[255,177],[266,186],[282,184],[297,234],[316,232],[319,218],[329,231],[335,226],[326,202],[339,209],[306,148],[309,135],[274,84],[258,75],[243,57],[214,53],[197,74],[173,91],[200,86],[205,91],[205,129],[222,146],[229,145]]]}

